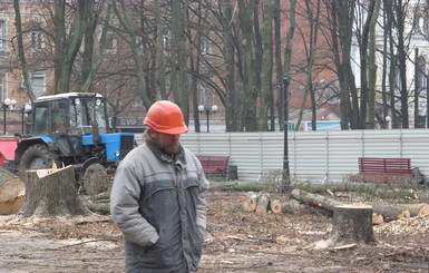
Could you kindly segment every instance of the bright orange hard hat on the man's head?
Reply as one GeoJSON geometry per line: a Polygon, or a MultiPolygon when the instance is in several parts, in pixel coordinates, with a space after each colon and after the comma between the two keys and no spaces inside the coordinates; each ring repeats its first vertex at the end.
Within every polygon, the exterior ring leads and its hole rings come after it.
{"type": "Polygon", "coordinates": [[[158,100],[147,110],[143,124],[156,131],[165,134],[182,134],[187,131],[181,108],[168,100],[158,100]]]}

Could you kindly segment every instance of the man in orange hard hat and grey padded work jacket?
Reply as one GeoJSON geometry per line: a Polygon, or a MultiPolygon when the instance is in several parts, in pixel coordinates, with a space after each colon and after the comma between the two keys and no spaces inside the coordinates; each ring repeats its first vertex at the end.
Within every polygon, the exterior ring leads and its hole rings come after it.
{"type": "Polygon", "coordinates": [[[125,237],[126,271],[196,272],[208,182],[199,160],[179,144],[187,127],[177,105],[155,103],[144,124],[145,143],[118,166],[110,196],[125,237]]]}

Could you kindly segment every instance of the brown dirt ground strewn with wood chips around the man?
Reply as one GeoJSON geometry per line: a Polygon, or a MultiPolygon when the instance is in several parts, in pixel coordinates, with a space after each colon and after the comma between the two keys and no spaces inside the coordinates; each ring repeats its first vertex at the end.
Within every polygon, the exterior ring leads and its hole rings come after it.
{"type": "MultiPolygon", "coordinates": [[[[198,272],[429,273],[429,215],[373,226],[373,245],[316,250],[314,244],[330,235],[331,217],[248,213],[244,196],[209,193],[198,272]]],[[[1,216],[0,242],[0,272],[124,272],[121,235],[109,216],[1,216]]]]}

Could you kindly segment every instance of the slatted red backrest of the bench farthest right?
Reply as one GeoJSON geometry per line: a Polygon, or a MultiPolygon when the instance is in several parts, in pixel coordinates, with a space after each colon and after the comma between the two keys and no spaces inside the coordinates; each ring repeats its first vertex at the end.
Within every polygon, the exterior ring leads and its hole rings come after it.
{"type": "Polygon", "coordinates": [[[410,158],[359,157],[359,172],[411,174],[410,158]]]}

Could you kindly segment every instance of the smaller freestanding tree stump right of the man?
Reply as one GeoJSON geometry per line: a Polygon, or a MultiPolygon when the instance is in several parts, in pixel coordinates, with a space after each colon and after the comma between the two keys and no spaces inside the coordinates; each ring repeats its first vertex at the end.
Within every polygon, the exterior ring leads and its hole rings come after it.
{"type": "Polygon", "coordinates": [[[372,207],[367,205],[335,206],[331,240],[335,244],[374,243],[372,207]]]}

